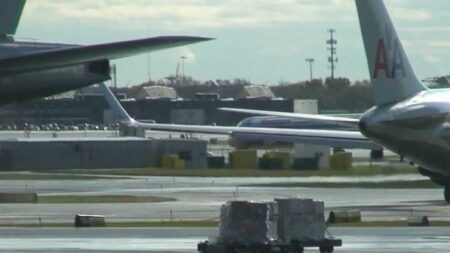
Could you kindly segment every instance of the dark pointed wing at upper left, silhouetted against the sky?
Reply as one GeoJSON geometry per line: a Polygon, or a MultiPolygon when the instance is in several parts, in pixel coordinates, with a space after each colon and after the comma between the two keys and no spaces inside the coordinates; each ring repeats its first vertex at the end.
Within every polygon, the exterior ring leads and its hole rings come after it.
{"type": "Polygon", "coordinates": [[[9,74],[64,67],[97,60],[113,60],[207,40],[211,40],[211,38],[164,36],[90,46],[74,46],[2,59],[0,60],[0,73],[9,74]]]}

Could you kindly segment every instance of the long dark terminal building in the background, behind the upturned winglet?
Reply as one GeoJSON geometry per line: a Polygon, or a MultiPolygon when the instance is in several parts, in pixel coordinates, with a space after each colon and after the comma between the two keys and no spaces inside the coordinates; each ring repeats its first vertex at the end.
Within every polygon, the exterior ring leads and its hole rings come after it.
{"type": "MultiPolygon", "coordinates": [[[[136,119],[158,123],[234,125],[248,116],[219,111],[219,107],[284,112],[310,110],[305,106],[305,101],[275,98],[267,87],[246,87],[240,98],[236,99],[199,94],[193,100],[183,100],[175,90],[161,86],[145,87],[132,93],[133,98],[126,99],[127,96],[118,91],[118,97],[122,98],[122,105],[128,113],[136,119]]],[[[312,113],[317,113],[317,109],[313,109],[312,113]]],[[[19,129],[24,124],[112,124],[115,121],[114,114],[96,87],[0,108],[0,124],[15,125],[19,129]]]]}

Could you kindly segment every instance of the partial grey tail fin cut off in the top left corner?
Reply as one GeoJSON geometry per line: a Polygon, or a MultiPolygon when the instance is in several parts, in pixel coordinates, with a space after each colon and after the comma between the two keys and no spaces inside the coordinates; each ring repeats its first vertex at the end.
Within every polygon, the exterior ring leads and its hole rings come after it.
{"type": "Polygon", "coordinates": [[[16,34],[26,0],[0,1],[0,35],[16,34]]]}

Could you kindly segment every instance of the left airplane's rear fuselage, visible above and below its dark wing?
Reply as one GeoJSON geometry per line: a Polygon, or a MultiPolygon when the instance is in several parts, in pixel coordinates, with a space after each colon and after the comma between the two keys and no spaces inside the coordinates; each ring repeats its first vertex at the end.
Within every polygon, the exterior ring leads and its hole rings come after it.
{"type": "MultiPolygon", "coordinates": [[[[4,40],[0,41],[0,60],[76,46],[4,40]]],[[[109,77],[108,60],[31,72],[0,72],[0,105],[81,88],[106,81],[109,77]]]]}

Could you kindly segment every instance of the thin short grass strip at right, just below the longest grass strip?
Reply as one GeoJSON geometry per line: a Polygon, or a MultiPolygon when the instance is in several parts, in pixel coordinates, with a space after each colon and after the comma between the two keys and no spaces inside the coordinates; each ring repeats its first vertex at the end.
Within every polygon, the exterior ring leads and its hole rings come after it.
{"type": "Polygon", "coordinates": [[[366,188],[366,189],[434,189],[442,188],[430,180],[384,181],[384,182],[293,182],[252,184],[259,187],[310,187],[310,188],[366,188]]]}

